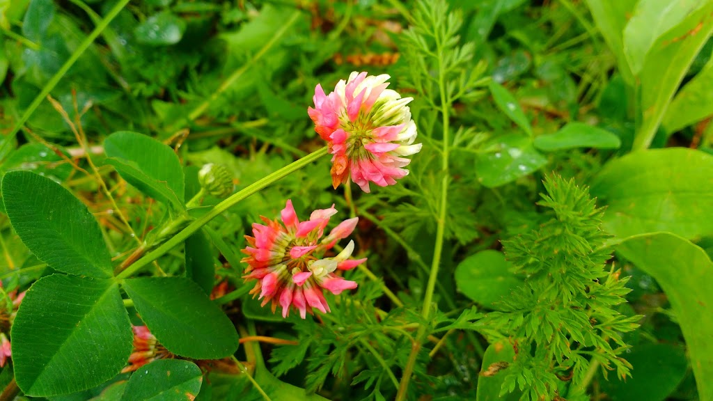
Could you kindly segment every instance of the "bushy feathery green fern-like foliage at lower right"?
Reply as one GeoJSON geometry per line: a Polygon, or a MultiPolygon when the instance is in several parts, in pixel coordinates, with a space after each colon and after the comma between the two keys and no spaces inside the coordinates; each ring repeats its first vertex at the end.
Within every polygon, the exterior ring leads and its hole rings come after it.
{"type": "Polygon", "coordinates": [[[551,210],[550,220],[503,242],[525,284],[478,325],[515,348],[515,359],[498,373],[506,375],[503,394],[519,387],[521,400],[561,400],[568,389],[572,400],[583,394],[592,363],[605,374],[629,374],[631,365],[619,356],[627,347],[621,334],[634,330],[639,317],[615,310],[629,292],[627,278],[605,269],[611,256],[602,209],[588,188],[559,176],[546,178],[545,188],[538,204],[551,210]]]}

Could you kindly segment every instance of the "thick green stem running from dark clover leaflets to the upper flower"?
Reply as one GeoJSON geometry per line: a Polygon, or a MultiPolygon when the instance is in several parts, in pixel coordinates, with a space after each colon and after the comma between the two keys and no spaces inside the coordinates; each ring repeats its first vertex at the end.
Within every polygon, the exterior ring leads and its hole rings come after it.
{"type": "Polygon", "coordinates": [[[243,188],[241,191],[238,191],[237,193],[233,194],[230,196],[230,198],[227,198],[223,200],[222,202],[218,203],[215,205],[210,212],[206,213],[202,217],[193,220],[193,223],[190,223],[186,228],[181,230],[179,233],[174,235],[172,238],[170,238],[168,241],[163,243],[163,245],[160,245],[158,248],[153,250],[152,252],[148,253],[145,255],[143,258],[140,258],[137,260],[135,263],[132,265],[128,266],[123,272],[119,273],[116,275],[117,280],[123,280],[125,278],[129,278],[131,275],[134,275],[135,273],[138,272],[141,268],[143,268],[145,265],[148,265],[149,263],[153,262],[154,260],[160,258],[162,255],[167,253],[169,250],[173,249],[176,245],[183,243],[190,235],[198,231],[203,225],[208,223],[210,220],[213,218],[217,217],[217,215],[220,215],[220,213],[225,212],[225,210],[228,210],[232,208],[236,203],[240,202],[240,200],[243,200],[247,198],[248,196],[251,196],[254,193],[259,192],[263,188],[270,186],[270,184],[275,183],[276,181],[289,176],[289,174],[294,173],[295,171],[299,170],[300,168],[303,168],[304,166],[307,166],[309,163],[312,163],[316,161],[318,158],[324,156],[327,154],[327,147],[324,147],[322,149],[319,149],[319,151],[314,151],[312,153],[309,153],[309,155],[304,156],[303,158],[294,161],[293,163],[289,164],[288,166],[284,166],[283,168],[280,168],[278,171],[275,171],[275,173],[271,173],[270,175],[266,176],[265,178],[260,179],[259,181],[256,181],[255,183],[250,184],[249,186],[243,188]]]}

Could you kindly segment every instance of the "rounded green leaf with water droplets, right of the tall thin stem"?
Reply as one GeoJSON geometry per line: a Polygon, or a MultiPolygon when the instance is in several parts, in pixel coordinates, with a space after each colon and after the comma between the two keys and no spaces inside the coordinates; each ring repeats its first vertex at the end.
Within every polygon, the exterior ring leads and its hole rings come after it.
{"type": "Polygon", "coordinates": [[[488,153],[478,156],[476,173],[483,186],[494,188],[527,176],[547,163],[530,138],[510,134],[493,139],[488,153]]]}

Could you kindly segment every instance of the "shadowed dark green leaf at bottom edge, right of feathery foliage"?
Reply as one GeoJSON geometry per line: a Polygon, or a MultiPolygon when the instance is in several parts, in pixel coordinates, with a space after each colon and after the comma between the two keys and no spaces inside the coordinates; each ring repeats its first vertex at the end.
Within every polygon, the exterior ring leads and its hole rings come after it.
{"type": "Polygon", "coordinates": [[[600,381],[602,390],[612,401],[664,401],[676,390],[686,370],[688,361],[683,347],[670,344],[635,345],[626,354],[634,367],[626,381],[610,377],[600,381]]]}

